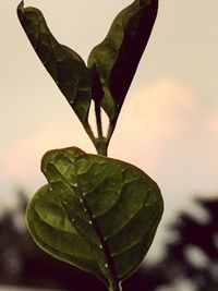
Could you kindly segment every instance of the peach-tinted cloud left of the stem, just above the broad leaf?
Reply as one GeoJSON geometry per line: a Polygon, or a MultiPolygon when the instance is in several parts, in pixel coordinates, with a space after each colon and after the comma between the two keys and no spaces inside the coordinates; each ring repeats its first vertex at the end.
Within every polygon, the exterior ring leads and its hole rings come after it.
{"type": "MultiPolygon", "coordinates": [[[[5,149],[1,160],[5,174],[13,179],[26,179],[38,171],[41,156],[49,149],[75,145],[72,136],[76,136],[76,145],[92,148],[92,144],[83,133],[78,122],[52,121],[45,124],[39,131],[33,132],[26,138],[14,143],[5,149]]],[[[93,151],[93,149],[92,149],[93,151]]]]}

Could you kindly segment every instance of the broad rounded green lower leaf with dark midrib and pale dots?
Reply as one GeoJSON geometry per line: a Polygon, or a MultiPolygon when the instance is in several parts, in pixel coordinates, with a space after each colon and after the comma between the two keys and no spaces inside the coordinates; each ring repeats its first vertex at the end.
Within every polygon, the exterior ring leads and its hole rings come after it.
{"type": "Polygon", "coordinates": [[[107,286],[130,276],[162,215],[157,184],[130,163],[76,147],[48,151],[41,170],[49,184],[27,208],[36,243],[107,286]]]}

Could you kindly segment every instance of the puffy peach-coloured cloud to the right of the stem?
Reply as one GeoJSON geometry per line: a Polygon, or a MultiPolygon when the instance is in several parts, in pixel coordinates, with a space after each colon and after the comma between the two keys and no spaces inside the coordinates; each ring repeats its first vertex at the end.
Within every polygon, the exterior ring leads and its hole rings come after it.
{"type": "MultiPolygon", "coordinates": [[[[191,93],[170,80],[137,89],[126,100],[117,130],[117,142],[120,141],[121,144],[120,147],[114,144],[113,150],[118,150],[119,155],[120,151],[122,155],[128,150],[138,162],[144,160],[142,167],[147,165],[155,170],[166,143],[183,129],[184,122],[187,123],[192,116],[196,117],[197,111],[191,93]],[[119,138],[122,134],[126,138],[128,147],[123,146],[123,140],[119,138]],[[137,153],[143,153],[143,156],[137,153]]],[[[126,155],[129,156],[128,153],[126,155]]]]}

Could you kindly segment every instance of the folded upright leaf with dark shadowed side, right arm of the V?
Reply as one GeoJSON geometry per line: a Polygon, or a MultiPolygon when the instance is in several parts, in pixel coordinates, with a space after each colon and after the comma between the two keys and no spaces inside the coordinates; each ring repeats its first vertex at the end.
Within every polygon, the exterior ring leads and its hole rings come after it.
{"type": "Polygon", "coordinates": [[[118,117],[156,20],[158,0],[135,0],[114,19],[105,40],[88,58],[96,68],[105,97],[101,107],[118,117]]]}

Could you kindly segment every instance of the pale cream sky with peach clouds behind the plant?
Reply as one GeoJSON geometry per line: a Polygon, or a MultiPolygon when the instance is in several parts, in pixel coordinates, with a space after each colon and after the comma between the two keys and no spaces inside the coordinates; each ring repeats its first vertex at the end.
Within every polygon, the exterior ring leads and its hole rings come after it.
{"type": "MultiPolygon", "coordinates": [[[[128,0],[29,0],[61,43],[84,60],[128,0]],[[64,3],[64,4],[63,4],[64,3]]],[[[0,209],[24,189],[46,183],[49,149],[95,153],[16,17],[19,1],[0,10],[0,209]]],[[[193,195],[218,194],[218,1],[161,0],[157,21],[128,94],[109,156],[142,168],[160,186],[168,221],[193,195]]],[[[194,209],[192,208],[194,211],[194,209]]]]}

